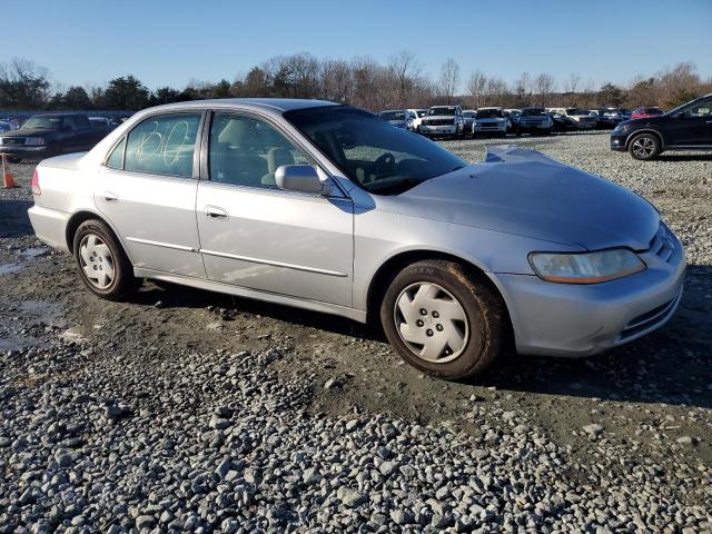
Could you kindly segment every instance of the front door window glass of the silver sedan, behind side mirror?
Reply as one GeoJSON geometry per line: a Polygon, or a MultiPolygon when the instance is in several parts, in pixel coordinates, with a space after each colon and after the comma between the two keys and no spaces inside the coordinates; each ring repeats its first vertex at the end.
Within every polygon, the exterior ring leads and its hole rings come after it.
{"type": "Polygon", "coordinates": [[[210,180],[276,188],[283,165],[309,165],[279,131],[261,120],[215,113],[210,126],[210,180]]]}

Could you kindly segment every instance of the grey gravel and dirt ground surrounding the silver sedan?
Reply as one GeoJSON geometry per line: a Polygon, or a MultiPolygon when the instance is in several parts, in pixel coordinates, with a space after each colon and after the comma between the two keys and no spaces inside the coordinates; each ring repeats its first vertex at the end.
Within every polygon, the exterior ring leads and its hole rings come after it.
{"type": "MultiPolygon", "coordinates": [[[[680,312],[582,359],[434,380],[319,314],[146,284],[81,289],[0,190],[0,533],[712,532],[712,158],[511,139],[652,200],[680,312]]],[[[444,141],[468,160],[498,141],[444,141]]]]}

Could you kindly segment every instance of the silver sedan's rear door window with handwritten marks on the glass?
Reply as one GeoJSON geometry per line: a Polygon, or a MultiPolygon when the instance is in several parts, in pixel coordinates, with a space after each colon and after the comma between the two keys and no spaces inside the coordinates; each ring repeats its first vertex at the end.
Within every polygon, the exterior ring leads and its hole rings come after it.
{"type": "Polygon", "coordinates": [[[199,113],[146,119],[128,135],[123,168],[190,178],[199,125],[199,113]]]}

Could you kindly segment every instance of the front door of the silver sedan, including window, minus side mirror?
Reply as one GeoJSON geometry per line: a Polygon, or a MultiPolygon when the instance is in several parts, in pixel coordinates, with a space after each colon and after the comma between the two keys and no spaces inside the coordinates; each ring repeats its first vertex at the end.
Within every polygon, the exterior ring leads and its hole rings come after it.
{"type": "Polygon", "coordinates": [[[215,112],[206,128],[196,214],[208,278],[350,306],[350,199],[279,189],[279,166],[315,162],[265,117],[215,112]]]}

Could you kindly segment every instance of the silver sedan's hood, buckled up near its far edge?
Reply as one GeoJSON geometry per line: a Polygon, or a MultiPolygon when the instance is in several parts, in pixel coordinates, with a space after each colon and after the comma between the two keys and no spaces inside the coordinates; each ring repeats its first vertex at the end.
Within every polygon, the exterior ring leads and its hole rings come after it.
{"type": "Polygon", "coordinates": [[[644,198],[609,180],[517,147],[390,197],[379,208],[487,228],[589,250],[644,250],[660,216],[644,198]]]}

